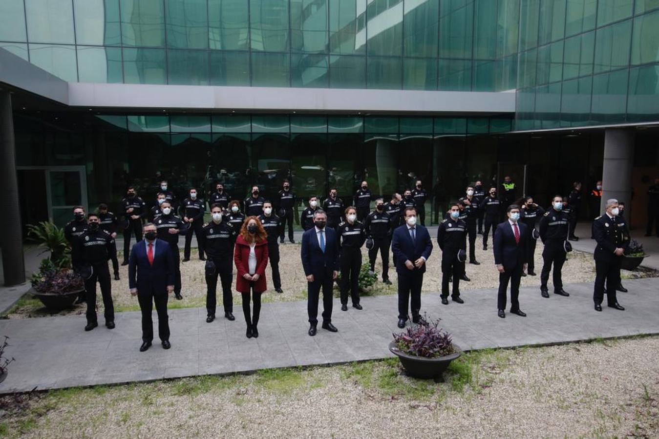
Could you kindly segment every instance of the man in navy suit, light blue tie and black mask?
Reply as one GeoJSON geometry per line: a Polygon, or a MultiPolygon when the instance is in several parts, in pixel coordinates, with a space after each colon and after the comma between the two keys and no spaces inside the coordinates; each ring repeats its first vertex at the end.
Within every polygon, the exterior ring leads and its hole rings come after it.
{"type": "Polygon", "coordinates": [[[330,332],[338,329],[331,324],[332,286],[339,274],[339,241],[336,231],[326,227],[327,215],[322,209],[314,211],[314,227],[302,235],[302,267],[307,281],[306,307],[309,313],[309,335],[316,335],[318,325],[318,297],[323,290],[323,324],[330,332]]]}

